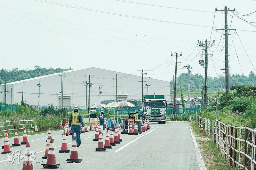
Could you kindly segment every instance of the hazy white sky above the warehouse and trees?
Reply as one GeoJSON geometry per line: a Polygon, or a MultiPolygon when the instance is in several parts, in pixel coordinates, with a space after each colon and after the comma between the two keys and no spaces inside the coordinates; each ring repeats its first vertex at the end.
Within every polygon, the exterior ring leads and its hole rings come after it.
{"type": "MultiPolygon", "coordinates": [[[[182,52],[182,57],[178,59],[181,62],[178,68],[190,64],[193,74],[204,74],[204,67],[199,65],[199,60],[202,58],[199,54],[202,54],[202,51],[199,52],[201,47],[196,47],[196,41],[205,41],[205,39],[209,41],[215,8],[235,7],[240,15],[256,10],[256,1],[252,0],[134,0],[133,2],[165,7],[116,0],[2,0],[0,67],[8,69],[14,67],[33,69],[35,65],[74,69],[100,67],[136,75],[140,74],[138,69],[148,69],[151,70],[148,71],[148,77],[170,81],[175,69],[175,65],[172,64],[175,60],[173,56],[171,57],[171,53],[182,52]],[[183,10],[184,8],[190,10],[183,10]],[[95,12],[95,10],[99,11],[95,12]],[[165,60],[167,63],[163,63],[165,60]],[[163,64],[160,65],[161,63],[163,64]],[[158,65],[160,66],[156,67],[158,65]]],[[[236,12],[235,14],[238,15],[236,12]]],[[[229,12],[229,15],[231,15],[228,16],[230,26],[232,12],[229,12]]],[[[244,19],[256,22],[256,12],[250,15],[244,16],[244,19]]],[[[252,24],[256,25],[256,23],[252,24]]],[[[208,59],[208,75],[212,77],[224,75],[220,70],[225,67],[224,51],[221,51],[224,36],[221,37],[222,31],[215,31],[215,27],[223,26],[224,14],[216,12],[211,38],[216,41],[215,46],[209,50],[209,54],[213,56],[209,56],[208,59]]],[[[256,65],[256,27],[234,15],[231,28],[238,30],[237,33],[252,64],[256,65]]],[[[250,71],[256,72],[234,31],[230,31],[228,38],[230,74],[248,75],[250,71]]],[[[178,74],[186,72],[187,69],[178,69],[178,74]]]]}

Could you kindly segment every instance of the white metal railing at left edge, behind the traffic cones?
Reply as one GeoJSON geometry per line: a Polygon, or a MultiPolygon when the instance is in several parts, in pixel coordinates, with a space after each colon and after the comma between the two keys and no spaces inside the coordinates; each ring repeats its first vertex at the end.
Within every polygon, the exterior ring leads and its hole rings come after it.
{"type": "Polygon", "coordinates": [[[15,120],[0,122],[0,136],[5,135],[5,131],[7,131],[8,134],[14,134],[15,129],[17,129],[18,132],[23,132],[24,128],[26,128],[27,132],[34,131],[34,120],[15,120]]]}

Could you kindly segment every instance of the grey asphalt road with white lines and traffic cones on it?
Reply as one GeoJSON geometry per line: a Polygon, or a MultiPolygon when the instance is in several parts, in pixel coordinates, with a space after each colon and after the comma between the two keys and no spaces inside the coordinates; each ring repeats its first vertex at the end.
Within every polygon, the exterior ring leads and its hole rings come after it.
{"type": "MultiPolygon", "coordinates": [[[[128,136],[121,134],[122,142],[107,149],[106,152],[95,152],[98,141],[93,141],[94,131],[81,134],[81,146],[78,147],[80,164],[66,163],[70,153],[59,153],[62,142],[62,130],[52,132],[57,164],[59,169],[175,169],[175,170],[198,170],[196,150],[191,137],[190,125],[185,122],[169,122],[166,124],[150,124],[151,128],[142,135],[128,136]]],[[[106,130],[105,130],[106,131],[106,130]]],[[[103,131],[103,133],[105,132],[103,131]]],[[[30,135],[31,151],[35,151],[36,163],[34,169],[43,169],[41,164],[46,163],[44,156],[47,133],[30,135]]],[[[67,137],[68,149],[71,149],[72,137],[67,137]]],[[[13,144],[10,138],[10,144],[13,144]]],[[[20,142],[22,137],[19,137],[20,142]]],[[[104,140],[104,138],[103,138],[104,140]]],[[[0,140],[4,144],[4,139],[0,140]]],[[[26,145],[13,147],[11,151],[21,150],[24,155],[26,145]]],[[[17,159],[16,159],[17,160],[17,159]]],[[[15,161],[16,161],[15,160],[15,161]]],[[[22,169],[23,160],[20,165],[14,161],[8,161],[6,154],[0,154],[1,169],[22,169]]]]}

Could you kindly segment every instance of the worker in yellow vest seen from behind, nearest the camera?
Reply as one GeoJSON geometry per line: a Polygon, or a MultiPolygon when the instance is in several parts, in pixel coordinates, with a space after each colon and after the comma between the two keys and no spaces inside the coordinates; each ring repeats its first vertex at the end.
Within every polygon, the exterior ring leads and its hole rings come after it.
{"type": "Polygon", "coordinates": [[[76,133],[76,145],[79,147],[81,145],[81,124],[84,128],[84,121],[82,115],[78,113],[78,107],[74,107],[74,113],[69,116],[69,126],[71,127],[72,140],[74,138],[74,133],[76,133]]]}

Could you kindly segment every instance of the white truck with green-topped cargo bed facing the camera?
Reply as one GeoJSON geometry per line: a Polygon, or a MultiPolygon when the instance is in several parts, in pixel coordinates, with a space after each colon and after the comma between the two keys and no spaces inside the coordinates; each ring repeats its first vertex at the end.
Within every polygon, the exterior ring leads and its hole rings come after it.
{"type": "Polygon", "coordinates": [[[164,95],[145,95],[145,118],[148,119],[150,122],[158,122],[159,124],[165,124],[166,107],[167,101],[164,99],[164,95]],[[154,98],[150,96],[154,96],[154,98]]]}

